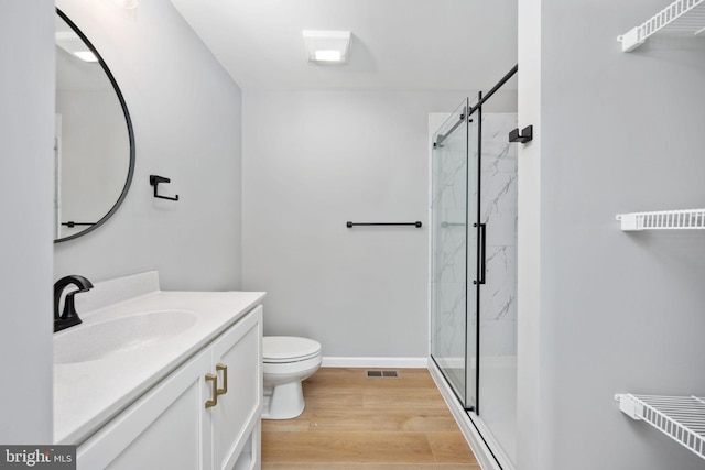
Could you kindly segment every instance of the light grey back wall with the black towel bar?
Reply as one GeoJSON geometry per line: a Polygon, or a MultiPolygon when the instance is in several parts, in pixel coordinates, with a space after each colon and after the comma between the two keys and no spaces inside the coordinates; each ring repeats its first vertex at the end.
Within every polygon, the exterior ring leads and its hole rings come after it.
{"type": "Polygon", "coordinates": [[[467,92],[243,96],[243,287],[324,356],[427,354],[427,114],[467,92]],[[346,228],[346,221],[416,228],[346,228]]]}

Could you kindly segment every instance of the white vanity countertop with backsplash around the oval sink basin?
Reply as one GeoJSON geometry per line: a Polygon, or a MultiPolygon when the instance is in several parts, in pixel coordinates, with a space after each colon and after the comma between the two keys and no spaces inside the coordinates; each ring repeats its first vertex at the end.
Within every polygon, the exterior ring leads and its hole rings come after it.
{"type": "MultiPolygon", "coordinates": [[[[246,313],[262,292],[162,292],[156,273],[96,283],[76,296],[83,324],[54,335],[145,311],[188,311],[193,326],[163,340],[87,362],[54,365],[54,442],[78,445],[246,313]],[[130,287],[137,286],[137,288],[130,287]],[[124,287],[128,288],[124,288],[124,287]],[[118,287],[117,291],[115,287],[118,287]],[[155,288],[156,287],[156,288],[155,288]],[[116,294],[117,293],[117,294],[116,294]],[[137,296],[132,296],[137,294],[137,296]],[[80,296],[85,297],[83,309],[80,296]],[[115,302],[106,304],[106,299],[115,302]],[[85,310],[86,306],[98,307],[85,310]]],[[[100,338],[91,340],[100,341],[100,338]]]]}

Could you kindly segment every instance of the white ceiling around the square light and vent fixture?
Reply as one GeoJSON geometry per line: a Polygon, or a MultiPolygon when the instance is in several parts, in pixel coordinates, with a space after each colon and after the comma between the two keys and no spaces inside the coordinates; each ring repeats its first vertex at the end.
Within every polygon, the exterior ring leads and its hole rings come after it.
{"type": "Polygon", "coordinates": [[[517,0],[171,0],[243,90],[488,89],[517,63],[517,0]],[[347,65],[303,30],[352,33],[347,65]]]}

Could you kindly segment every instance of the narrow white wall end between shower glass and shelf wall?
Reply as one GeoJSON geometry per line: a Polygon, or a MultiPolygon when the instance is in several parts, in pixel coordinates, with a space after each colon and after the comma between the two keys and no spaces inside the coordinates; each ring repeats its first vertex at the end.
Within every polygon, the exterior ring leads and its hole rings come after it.
{"type": "Polygon", "coordinates": [[[517,221],[517,462],[521,470],[546,469],[546,428],[552,412],[541,406],[547,374],[541,326],[541,1],[519,10],[519,129],[533,124],[533,141],[518,145],[517,221]]]}

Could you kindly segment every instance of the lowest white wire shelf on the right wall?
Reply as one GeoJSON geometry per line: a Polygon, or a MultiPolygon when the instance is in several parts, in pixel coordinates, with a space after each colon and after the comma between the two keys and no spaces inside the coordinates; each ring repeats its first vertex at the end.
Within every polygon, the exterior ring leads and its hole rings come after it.
{"type": "Polygon", "coordinates": [[[619,409],[641,419],[705,459],[705,398],[617,394],[619,409]]]}

